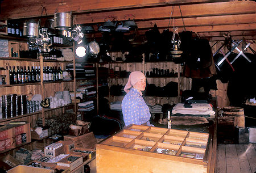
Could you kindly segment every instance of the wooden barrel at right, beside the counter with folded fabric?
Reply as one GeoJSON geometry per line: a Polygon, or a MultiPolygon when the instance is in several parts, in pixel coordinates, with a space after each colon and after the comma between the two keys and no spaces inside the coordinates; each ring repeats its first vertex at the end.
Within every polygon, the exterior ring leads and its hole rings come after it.
{"type": "Polygon", "coordinates": [[[223,108],[223,116],[233,116],[234,117],[234,126],[240,128],[245,127],[245,112],[241,107],[232,107],[227,106],[223,108]]]}

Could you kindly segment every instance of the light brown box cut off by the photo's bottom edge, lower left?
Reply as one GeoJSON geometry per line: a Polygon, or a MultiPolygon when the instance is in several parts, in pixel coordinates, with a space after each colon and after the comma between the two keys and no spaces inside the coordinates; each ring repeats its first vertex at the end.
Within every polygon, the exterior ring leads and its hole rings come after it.
{"type": "Polygon", "coordinates": [[[46,168],[39,168],[39,167],[31,167],[26,165],[18,165],[9,171],[7,173],[28,173],[28,172],[40,172],[40,173],[54,173],[54,170],[49,170],[46,168]]]}

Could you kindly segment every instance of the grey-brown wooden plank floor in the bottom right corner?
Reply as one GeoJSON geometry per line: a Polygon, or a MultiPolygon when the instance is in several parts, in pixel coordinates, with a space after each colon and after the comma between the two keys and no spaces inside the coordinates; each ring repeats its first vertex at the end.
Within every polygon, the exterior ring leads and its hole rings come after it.
{"type": "Polygon", "coordinates": [[[256,144],[218,144],[215,173],[256,172],[256,144]]]}

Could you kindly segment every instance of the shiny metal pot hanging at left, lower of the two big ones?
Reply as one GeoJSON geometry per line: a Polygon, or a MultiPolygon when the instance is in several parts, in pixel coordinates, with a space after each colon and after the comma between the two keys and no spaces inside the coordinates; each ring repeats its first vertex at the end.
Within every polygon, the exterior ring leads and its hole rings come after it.
{"type": "Polygon", "coordinates": [[[39,24],[38,23],[24,23],[23,35],[27,37],[40,37],[39,36],[39,24]]]}

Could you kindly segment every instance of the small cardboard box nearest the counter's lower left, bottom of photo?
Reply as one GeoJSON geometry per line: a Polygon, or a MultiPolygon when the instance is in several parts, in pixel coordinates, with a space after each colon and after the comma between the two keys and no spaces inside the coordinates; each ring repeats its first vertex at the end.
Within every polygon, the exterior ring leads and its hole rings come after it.
{"type": "Polygon", "coordinates": [[[82,164],[81,155],[73,155],[73,154],[70,154],[68,157],[65,157],[61,159],[59,162],[57,162],[57,166],[69,167],[71,171],[79,167],[81,164],[82,164]],[[68,161],[69,157],[79,157],[79,158],[70,163],[68,161]]]}

